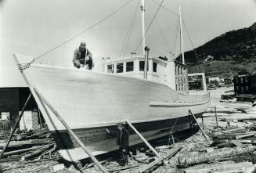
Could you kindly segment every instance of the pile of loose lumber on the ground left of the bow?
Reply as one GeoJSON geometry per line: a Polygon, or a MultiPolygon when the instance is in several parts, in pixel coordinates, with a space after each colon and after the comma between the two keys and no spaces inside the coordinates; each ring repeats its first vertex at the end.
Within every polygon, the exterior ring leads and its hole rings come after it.
{"type": "MultiPolygon", "coordinates": [[[[8,136],[0,140],[0,151],[6,145],[8,136]]],[[[31,132],[17,130],[3,157],[18,157],[20,160],[41,159],[47,155],[52,157],[56,152],[56,144],[53,141],[48,128],[41,128],[31,132]]]]}

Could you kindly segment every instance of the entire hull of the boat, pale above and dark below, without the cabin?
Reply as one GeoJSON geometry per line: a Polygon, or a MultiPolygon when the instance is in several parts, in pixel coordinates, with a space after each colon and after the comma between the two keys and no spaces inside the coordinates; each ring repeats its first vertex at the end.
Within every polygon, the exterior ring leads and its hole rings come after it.
{"type": "MultiPolygon", "coordinates": [[[[95,155],[117,149],[114,138],[106,135],[106,128],[114,129],[118,122],[130,121],[146,139],[156,139],[168,135],[176,118],[180,121],[177,130],[188,128],[189,110],[202,114],[210,104],[209,93],[186,95],[161,83],[116,74],[41,64],[31,64],[21,72],[67,160],[88,156],[67,135],[40,95],[95,155]]],[[[141,142],[130,133],[131,145],[141,142]]]]}

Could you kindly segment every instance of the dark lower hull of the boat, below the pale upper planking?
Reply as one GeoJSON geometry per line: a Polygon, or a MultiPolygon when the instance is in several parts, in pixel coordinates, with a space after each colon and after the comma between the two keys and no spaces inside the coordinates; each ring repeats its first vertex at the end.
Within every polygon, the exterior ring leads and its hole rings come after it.
{"type": "MultiPolygon", "coordinates": [[[[196,117],[200,117],[197,114],[196,117]]],[[[190,128],[192,117],[178,117],[161,121],[149,121],[133,124],[135,128],[150,141],[166,136],[166,139],[171,137],[175,132],[184,131],[190,128]]],[[[134,146],[142,142],[139,135],[132,131],[128,125],[125,125],[129,132],[129,146],[134,146]]],[[[117,130],[116,125],[100,127],[100,128],[80,128],[74,129],[74,133],[78,136],[81,142],[85,143],[93,155],[108,153],[118,150],[116,139],[114,136],[106,133],[106,128],[114,132],[117,130]]],[[[78,143],[69,135],[67,131],[52,132],[52,136],[59,146],[59,153],[65,160],[76,161],[88,157],[87,153],[78,145],[78,143]]]]}

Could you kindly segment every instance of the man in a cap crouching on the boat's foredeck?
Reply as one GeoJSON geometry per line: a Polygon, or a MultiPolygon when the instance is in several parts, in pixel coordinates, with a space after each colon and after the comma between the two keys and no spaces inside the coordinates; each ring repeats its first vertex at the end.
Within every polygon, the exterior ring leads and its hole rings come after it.
{"type": "Polygon", "coordinates": [[[94,66],[92,62],[92,53],[86,49],[85,42],[81,42],[79,48],[75,49],[74,58],[72,61],[74,63],[74,67],[86,67],[86,69],[92,70],[92,67],[94,66]]]}

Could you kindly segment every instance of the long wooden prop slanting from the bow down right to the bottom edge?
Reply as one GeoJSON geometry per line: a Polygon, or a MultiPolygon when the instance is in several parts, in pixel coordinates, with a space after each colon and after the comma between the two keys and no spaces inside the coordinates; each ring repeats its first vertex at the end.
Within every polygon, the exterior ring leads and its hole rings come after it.
{"type": "Polygon", "coordinates": [[[59,115],[59,113],[52,107],[52,105],[50,103],[48,103],[46,101],[46,99],[40,95],[40,93],[38,92],[38,90],[36,88],[34,88],[34,92],[36,92],[38,99],[41,99],[43,101],[43,103],[45,103],[50,110],[52,110],[52,113],[55,114],[55,116],[59,119],[59,121],[63,124],[63,126],[65,128],[67,128],[67,131],[70,133],[70,135],[76,140],[76,142],[78,142],[78,144],[81,146],[81,148],[85,151],[85,153],[88,154],[89,157],[91,157],[91,159],[96,163],[96,165],[98,166],[98,168],[107,173],[108,171],[106,171],[105,168],[103,168],[103,166],[99,163],[99,161],[96,159],[96,157],[94,157],[92,155],[92,153],[86,148],[86,146],[81,142],[80,139],[78,139],[78,136],[74,134],[74,132],[70,129],[70,127],[67,125],[67,123],[63,120],[63,118],[59,115]]]}

